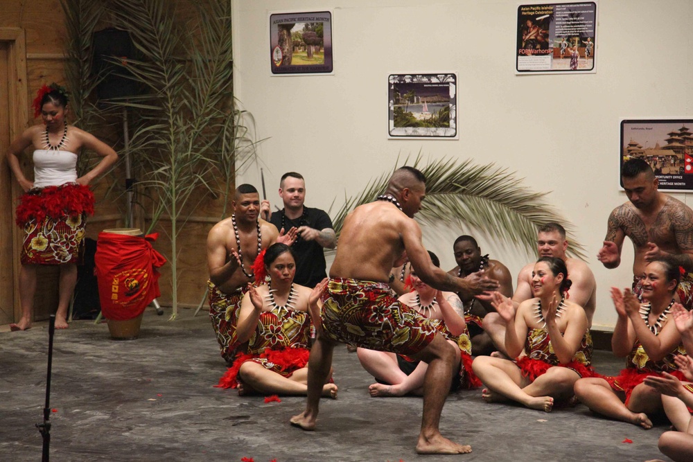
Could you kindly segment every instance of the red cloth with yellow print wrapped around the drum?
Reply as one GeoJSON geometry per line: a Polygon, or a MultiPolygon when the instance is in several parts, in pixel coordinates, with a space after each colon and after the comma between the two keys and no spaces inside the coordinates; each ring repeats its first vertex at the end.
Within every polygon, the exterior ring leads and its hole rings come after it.
{"type": "Polygon", "coordinates": [[[116,233],[99,233],[96,241],[96,278],[101,312],[107,319],[125,321],[138,317],[152,300],[161,296],[157,268],[166,263],[151,242],[116,233]]]}

